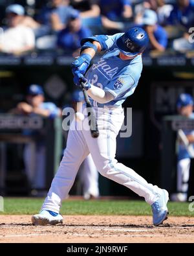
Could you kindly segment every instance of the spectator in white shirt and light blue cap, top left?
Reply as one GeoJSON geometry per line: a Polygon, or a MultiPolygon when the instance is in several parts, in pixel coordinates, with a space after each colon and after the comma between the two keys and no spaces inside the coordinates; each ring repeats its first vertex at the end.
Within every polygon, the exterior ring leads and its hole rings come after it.
{"type": "Polygon", "coordinates": [[[21,25],[25,10],[21,5],[10,5],[6,8],[8,25],[0,42],[0,52],[21,54],[34,49],[35,37],[32,29],[21,25]]]}

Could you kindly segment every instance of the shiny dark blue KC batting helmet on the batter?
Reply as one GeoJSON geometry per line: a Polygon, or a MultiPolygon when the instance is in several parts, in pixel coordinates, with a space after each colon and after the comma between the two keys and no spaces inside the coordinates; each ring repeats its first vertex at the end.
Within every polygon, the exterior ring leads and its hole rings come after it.
{"type": "Polygon", "coordinates": [[[116,45],[126,56],[135,56],[146,49],[148,42],[146,31],[133,27],[116,40],[116,45]]]}

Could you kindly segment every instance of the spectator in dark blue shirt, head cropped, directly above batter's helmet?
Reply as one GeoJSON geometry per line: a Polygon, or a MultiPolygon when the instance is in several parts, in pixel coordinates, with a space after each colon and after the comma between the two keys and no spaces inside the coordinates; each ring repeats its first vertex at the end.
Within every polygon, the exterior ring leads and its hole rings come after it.
{"type": "Polygon", "coordinates": [[[130,0],[100,0],[102,24],[108,30],[125,30],[125,21],[133,16],[130,0]]]}

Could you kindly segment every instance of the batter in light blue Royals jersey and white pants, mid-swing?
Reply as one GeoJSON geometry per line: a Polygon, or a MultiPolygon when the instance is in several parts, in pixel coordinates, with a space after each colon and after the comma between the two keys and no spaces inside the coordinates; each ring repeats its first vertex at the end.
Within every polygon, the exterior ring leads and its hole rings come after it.
{"type": "Polygon", "coordinates": [[[124,121],[122,103],[134,93],[138,84],[142,72],[142,52],[148,41],[146,31],[138,27],[113,36],[98,35],[81,40],[81,55],[72,63],[74,83],[80,86],[80,82],[85,82],[85,89],[96,111],[100,135],[97,139],[92,138],[86,126],[81,128],[81,122],[78,122],[77,129],[72,125],[58,172],[40,213],[32,216],[33,224],[63,222],[59,214],[61,202],[89,153],[98,172],[145,198],[151,205],[155,226],[167,218],[168,192],[147,183],[134,170],[115,159],[116,136],[124,121]],[[96,52],[101,51],[104,51],[102,58],[88,69],[96,52]]]}

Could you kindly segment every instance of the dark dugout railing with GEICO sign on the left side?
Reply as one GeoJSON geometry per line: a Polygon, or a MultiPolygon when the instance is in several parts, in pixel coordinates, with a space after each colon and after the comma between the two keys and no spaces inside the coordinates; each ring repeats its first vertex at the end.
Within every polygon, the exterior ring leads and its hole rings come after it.
{"type": "Polygon", "coordinates": [[[61,118],[0,114],[1,194],[16,196],[30,193],[30,184],[24,172],[23,152],[24,146],[29,145],[29,163],[36,173],[35,161],[41,161],[40,158],[36,159],[38,141],[42,141],[45,146],[45,186],[42,188],[45,191],[49,189],[61,159],[61,118]],[[25,135],[27,130],[32,134],[25,135]]]}

